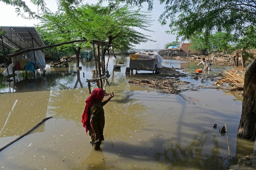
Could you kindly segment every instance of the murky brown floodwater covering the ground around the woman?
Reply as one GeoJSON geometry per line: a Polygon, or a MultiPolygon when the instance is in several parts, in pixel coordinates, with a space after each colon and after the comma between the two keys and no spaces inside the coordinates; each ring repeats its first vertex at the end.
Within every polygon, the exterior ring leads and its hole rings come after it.
{"type": "MultiPolygon", "coordinates": [[[[113,91],[115,96],[104,106],[105,141],[100,151],[92,149],[90,137],[86,136],[81,123],[89,96],[86,79],[92,78],[94,63],[81,62],[81,70],[76,70],[75,63],[69,63],[69,68],[51,68],[47,64],[45,79],[15,89],[2,87],[0,147],[42,119],[52,118],[3,149],[0,168],[225,170],[255,150],[255,141],[236,136],[241,97],[220,89],[202,88],[183,92],[183,96],[197,100],[188,102],[180,95],[128,84],[129,79],[144,79],[148,75],[140,73],[150,72],[125,74],[129,57],[118,56],[118,61],[124,61],[120,70],[113,70],[115,60],[112,57],[108,66],[111,77],[106,91],[113,91]],[[11,93],[6,93],[9,91],[11,93]],[[216,129],[214,124],[217,124],[216,129]],[[229,146],[226,134],[219,132],[225,124],[229,146]]],[[[228,69],[212,66],[212,72],[203,72],[201,77],[195,78],[191,73],[195,73],[197,63],[164,60],[163,64],[186,68],[181,71],[189,76],[181,80],[194,86],[212,86],[209,75],[228,69]]],[[[94,88],[96,84],[91,87],[94,88]]]]}

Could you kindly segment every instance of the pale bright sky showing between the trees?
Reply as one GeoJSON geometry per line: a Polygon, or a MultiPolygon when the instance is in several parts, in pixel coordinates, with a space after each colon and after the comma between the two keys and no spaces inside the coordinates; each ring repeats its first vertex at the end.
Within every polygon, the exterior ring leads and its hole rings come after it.
{"type": "MultiPolygon", "coordinates": [[[[32,11],[37,11],[37,8],[31,4],[30,0],[24,0],[28,7],[31,8],[32,11]]],[[[51,11],[57,10],[57,5],[55,0],[46,0],[46,5],[51,11]]],[[[95,0],[84,0],[84,2],[91,4],[92,2],[95,2],[95,0]]],[[[146,11],[148,4],[143,4],[144,9],[146,11]]],[[[18,27],[34,27],[35,24],[39,23],[39,20],[37,19],[24,19],[21,16],[17,16],[17,13],[15,12],[14,6],[6,5],[4,2],[0,1],[0,26],[18,26],[18,27]]],[[[139,45],[135,45],[135,49],[163,49],[164,45],[168,42],[175,41],[175,35],[166,34],[166,30],[170,30],[168,25],[161,26],[160,23],[158,23],[158,17],[161,15],[161,13],[164,11],[164,6],[159,4],[158,0],[154,0],[154,7],[153,11],[151,12],[152,19],[155,20],[152,22],[151,26],[148,28],[150,30],[153,30],[154,32],[145,32],[144,30],[139,30],[145,35],[151,36],[150,39],[155,40],[156,42],[145,42],[141,43],[139,45]]]]}

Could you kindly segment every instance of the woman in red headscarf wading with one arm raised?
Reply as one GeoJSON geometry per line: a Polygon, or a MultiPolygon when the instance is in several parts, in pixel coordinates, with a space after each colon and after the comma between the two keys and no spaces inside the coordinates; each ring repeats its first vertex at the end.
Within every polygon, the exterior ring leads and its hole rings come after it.
{"type": "Polygon", "coordinates": [[[94,146],[94,150],[100,149],[101,141],[104,140],[103,129],[105,126],[105,115],[103,106],[107,104],[114,93],[109,94],[108,98],[104,101],[105,91],[103,89],[94,89],[85,103],[84,113],[82,114],[82,123],[85,127],[85,131],[89,130],[91,136],[91,144],[94,146]]]}

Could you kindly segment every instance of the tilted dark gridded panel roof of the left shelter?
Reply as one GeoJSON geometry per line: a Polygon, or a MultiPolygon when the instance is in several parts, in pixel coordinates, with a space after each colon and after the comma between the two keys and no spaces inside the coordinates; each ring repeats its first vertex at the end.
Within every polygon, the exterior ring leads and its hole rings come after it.
{"type": "Polygon", "coordinates": [[[45,46],[34,27],[6,27],[0,26],[0,50],[21,50],[45,46]],[[32,41],[33,39],[33,41],[32,41]],[[3,40],[3,44],[2,44],[3,40]],[[33,43],[33,44],[32,44],[33,43]]]}

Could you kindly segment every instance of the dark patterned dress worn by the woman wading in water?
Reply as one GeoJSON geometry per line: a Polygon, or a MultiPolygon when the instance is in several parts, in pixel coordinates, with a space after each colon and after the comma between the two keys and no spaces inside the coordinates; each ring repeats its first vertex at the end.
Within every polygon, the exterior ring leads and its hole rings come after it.
{"type": "MultiPolygon", "coordinates": [[[[105,126],[105,114],[101,103],[92,103],[91,106],[91,119],[94,119],[98,132],[100,133],[100,141],[104,140],[103,129],[105,126]]],[[[89,135],[91,136],[91,143],[94,144],[94,131],[89,127],[89,135]]]]}

